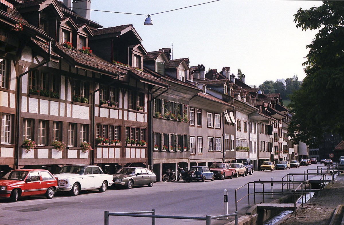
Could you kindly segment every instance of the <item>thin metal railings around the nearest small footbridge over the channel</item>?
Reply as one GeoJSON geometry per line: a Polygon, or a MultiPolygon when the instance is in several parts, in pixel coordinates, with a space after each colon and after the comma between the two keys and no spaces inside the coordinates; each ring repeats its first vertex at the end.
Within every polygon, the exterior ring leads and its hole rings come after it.
{"type": "MultiPolygon", "coordinates": [[[[294,213],[296,214],[296,202],[297,202],[297,198],[296,198],[296,194],[297,191],[301,188],[301,196],[304,195],[304,193],[306,194],[306,188],[307,188],[307,184],[309,185],[309,195],[311,196],[310,190],[311,190],[311,184],[307,181],[254,181],[254,182],[249,182],[247,184],[244,184],[243,186],[235,189],[235,211],[238,210],[238,202],[246,199],[246,197],[248,198],[248,206],[250,206],[250,195],[254,195],[254,203],[256,204],[256,195],[262,195],[263,196],[263,203],[265,203],[265,195],[293,195],[294,199],[294,213]],[[273,187],[273,184],[281,184],[282,187],[284,184],[288,184],[288,183],[297,183],[299,184],[297,188],[293,189],[292,192],[290,193],[286,193],[286,192],[266,192],[265,191],[265,187],[264,184],[270,184],[270,186],[273,187]],[[250,184],[253,184],[253,193],[250,193],[250,184]],[[262,184],[262,191],[258,192],[256,191],[256,184],[262,184]],[[245,196],[243,196],[243,198],[238,199],[238,191],[241,188],[244,188],[247,185],[247,194],[245,196]]],[[[303,198],[302,198],[302,206],[303,206],[303,198]]]]}

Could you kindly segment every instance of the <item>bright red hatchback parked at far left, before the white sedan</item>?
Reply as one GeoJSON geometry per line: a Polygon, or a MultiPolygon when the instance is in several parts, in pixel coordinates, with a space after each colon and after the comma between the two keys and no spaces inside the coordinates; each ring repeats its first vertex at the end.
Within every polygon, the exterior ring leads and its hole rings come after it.
{"type": "Polygon", "coordinates": [[[11,170],[0,179],[0,197],[17,202],[19,196],[45,194],[52,199],[57,187],[57,180],[48,170],[11,170]]]}

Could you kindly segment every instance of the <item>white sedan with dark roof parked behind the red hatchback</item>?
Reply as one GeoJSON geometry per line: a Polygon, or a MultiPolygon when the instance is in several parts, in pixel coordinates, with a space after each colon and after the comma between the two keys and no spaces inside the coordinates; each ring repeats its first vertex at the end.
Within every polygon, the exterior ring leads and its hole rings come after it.
{"type": "Polygon", "coordinates": [[[105,174],[94,165],[66,165],[54,176],[58,181],[58,191],[68,191],[72,196],[77,196],[81,190],[105,192],[114,183],[114,176],[105,174]]]}

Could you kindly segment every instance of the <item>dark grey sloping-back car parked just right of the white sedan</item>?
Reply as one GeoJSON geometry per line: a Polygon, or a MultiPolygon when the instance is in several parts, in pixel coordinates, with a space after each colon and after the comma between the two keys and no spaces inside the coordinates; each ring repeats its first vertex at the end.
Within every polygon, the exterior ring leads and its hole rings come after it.
{"type": "Polygon", "coordinates": [[[131,189],[133,186],[148,185],[152,187],[157,181],[157,175],[153,171],[143,167],[122,167],[113,175],[114,184],[131,189]]]}

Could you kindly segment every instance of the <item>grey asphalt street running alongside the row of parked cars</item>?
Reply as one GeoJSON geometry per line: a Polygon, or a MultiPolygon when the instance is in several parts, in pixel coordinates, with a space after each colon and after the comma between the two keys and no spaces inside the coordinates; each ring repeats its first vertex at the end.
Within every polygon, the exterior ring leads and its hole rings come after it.
{"type": "MultiPolygon", "coordinates": [[[[98,191],[82,191],[76,197],[57,192],[53,199],[44,196],[20,198],[11,203],[0,199],[0,224],[104,224],[104,211],[129,212],[150,211],[155,209],[157,215],[200,216],[224,214],[223,191],[228,190],[229,213],[235,211],[235,189],[252,181],[280,181],[288,173],[303,173],[307,169],[316,169],[323,164],[301,166],[287,170],[255,171],[252,176],[206,182],[183,181],[157,182],[153,187],[134,187],[131,190],[109,187],[105,193],[98,191]]],[[[302,176],[295,180],[303,179],[302,176]]],[[[329,178],[327,178],[329,179],[329,178]]],[[[250,187],[250,189],[253,187],[250,187]]],[[[280,185],[274,187],[275,191],[280,185]]],[[[256,191],[262,186],[257,185],[256,191]]],[[[265,185],[265,191],[270,191],[270,184],[265,185]]],[[[247,194],[247,186],[237,193],[238,199],[247,194]]],[[[273,199],[280,196],[275,195],[273,199]]],[[[271,195],[265,195],[265,202],[271,200],[271,195]]],[[[262,202],[262,196],[256,196],[256,202],[262,202]]],[[[250,197],[253,204],[253,197],[250,197]]],[[[249,208],[247,197],[238,203],[240,215],[249,208]]],[[[232,218],[234,220],[234,217],[232,218]]],[[[151,218],[110,216],[110,224],[152,224],[151,218]]],[[[230,220],[212,221],[213,225],[225,224],[230,220]]],[[[205,221],[156,219],[156,224],[205,224],[205,221]]]]}

